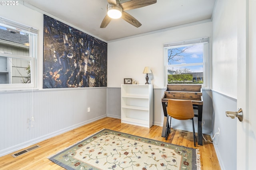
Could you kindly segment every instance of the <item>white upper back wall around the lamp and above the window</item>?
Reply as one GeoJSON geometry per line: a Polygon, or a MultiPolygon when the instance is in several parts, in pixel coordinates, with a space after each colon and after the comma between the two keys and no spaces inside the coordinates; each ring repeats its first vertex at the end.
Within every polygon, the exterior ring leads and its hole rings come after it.
{"type": "MultiPolygon", "coordinates": [[[[108,87],[120,87],[124,78],[145,84],[145,66],[150,66],[150,83],[154,88],[164,88],[164,49],[166,43],[209,37],[212,23],[174,27],[161,32],[131,37],[108,43],[108,87]]],[[[211,43],[210,43],[211,46],[211,43]]]]}

